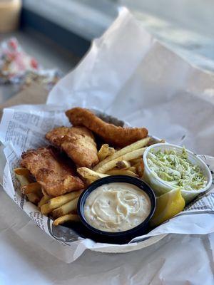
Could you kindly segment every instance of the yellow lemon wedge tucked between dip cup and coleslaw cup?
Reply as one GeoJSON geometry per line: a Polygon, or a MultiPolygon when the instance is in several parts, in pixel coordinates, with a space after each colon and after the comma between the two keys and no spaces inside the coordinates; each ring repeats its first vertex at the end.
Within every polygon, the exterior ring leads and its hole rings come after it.
{"type": "Polygon", "coordinates": [[[184,207],[185,199],[183,199],[180,189],[171,190],[157,197],[156,211],[151,218],[151,227],[157,227],[175,214],[182,212],[184,207]]]}

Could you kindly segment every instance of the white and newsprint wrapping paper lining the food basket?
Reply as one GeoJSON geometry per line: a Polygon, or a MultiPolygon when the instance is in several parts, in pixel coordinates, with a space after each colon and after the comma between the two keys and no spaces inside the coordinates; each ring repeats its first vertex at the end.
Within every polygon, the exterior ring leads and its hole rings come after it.
{"type": "MultiPolygon", "coordinates": [[[[96,108],[146,126],[152,135],[185,145],[198,153],[213,154],[214,77],[203,73],[144,31],[141,23],[123,10],[106,33],[93,42],[79,66],[51,91],[49,105],[21,105],[4,110],[0,140],[4,155],[4,190],[47,234],[61,241],[46,250],[66,262],[85,249],[127,252],[156,242],[164,234],[209,234],[214,232],[213,190],[149,234],[127,245],[97,244],[79,238],[65,227],[55,231],[50,219],[21,197],[14,179],[21,151],[44,145],[44,134],[56,125],[68,125],[63,111],[73,106],[96,108]],[[146,237],[152,237],[143,241],[146,237]]],[[[214,171],[214,159],[202,156],[214,171]]]]}

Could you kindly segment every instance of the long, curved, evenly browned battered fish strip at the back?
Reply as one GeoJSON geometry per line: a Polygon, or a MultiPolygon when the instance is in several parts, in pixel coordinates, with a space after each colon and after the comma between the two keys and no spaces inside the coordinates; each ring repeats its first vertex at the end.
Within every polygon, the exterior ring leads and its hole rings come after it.
{"type": "Polygon", "coordinates": [[[103,138],[105,142],[118,147],[126,147],[148,135],[146,128],[122,128],[106,123],[88,109],[73,108],[66,111],[66,116],[72,125],[83,125],[103,138]]]}

